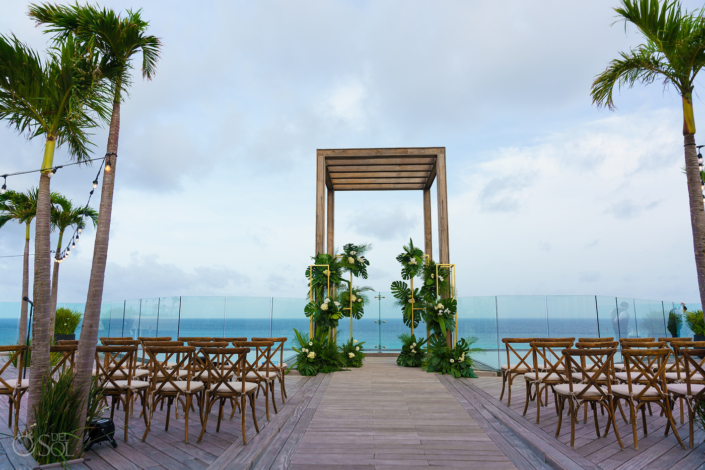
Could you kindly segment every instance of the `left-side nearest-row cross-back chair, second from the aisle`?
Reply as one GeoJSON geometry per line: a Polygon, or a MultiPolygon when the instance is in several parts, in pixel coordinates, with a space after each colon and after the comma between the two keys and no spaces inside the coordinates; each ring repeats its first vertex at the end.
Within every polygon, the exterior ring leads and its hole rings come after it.
{"type": "Polygon", "coordinates": [[[185,442],[188,444],[188,423],[189,412],[193,403],[194,397],[199,407],[199,418],[203,425],[203,392],[205,390],[203,382],[192,380],[191,362],[196,348],[193,346],[164,346],[157,343],[145,343],[145,349],[149,356],[150,367],[152,367],[151,383],[149,387],[149,396],[147,397],[149,419],[147,428],[142,436],[142,441],[147,438],[149,429],[152,424],[152,416],[156,406],[164,401],[167,402],[167,414],[165,431],[169,430],[169,417],[171,416],[171,405],[174,404],[176,418],[179,418],[179,403],[182,404],[184,410],[184,436],[185,442]],[[158,356],[162,354],[163,360],[159,360],[158,356]],[[169,358],[179,358],[175,367],[169,367],[169,358]],[[185,371],[185,375],[179,374],[179,371],[185,371]],[[184,401],[182,398],[185,397],[184,401]]]}

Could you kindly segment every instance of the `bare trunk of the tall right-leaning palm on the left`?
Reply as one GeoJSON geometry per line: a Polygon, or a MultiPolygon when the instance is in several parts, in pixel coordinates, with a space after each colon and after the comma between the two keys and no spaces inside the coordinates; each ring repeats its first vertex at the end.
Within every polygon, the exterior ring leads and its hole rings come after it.
{"type": "MultiPolygon", "coordinates": [[[[88,405],[88,392],[91,386],[91,373],[93,358],[98,344],[98,325],[100,322],[100,307],[103,299],[103,283],[105,281],[105,265],[108,260],[108,241],[110,237],[110,217],[113,210],[113,188],[115,185],[115,171],[117,169],[118,138],[120,134],[120,84],[116,86],[113,101],[113,114],[110,119],[110,133],[108,134],[108,148],[106,153],[111,155],[110,171],[103,172],[103,186],[100,195],[100,218],[96,228],[95,245],[93,248],[93,265],[91,278],[88,284],[88,297],[86,309],[83,313],[83,326],[78,342],[78,358],[76,361],[76,377],[74,386],[80,391],[82,405],[79,407],[79,423],[86,422],[88,405]]],[[[81,426],[82,427],[82,426],[81,426]]],[[[81,446],[77,446],[80,450],[81,446]]]]}

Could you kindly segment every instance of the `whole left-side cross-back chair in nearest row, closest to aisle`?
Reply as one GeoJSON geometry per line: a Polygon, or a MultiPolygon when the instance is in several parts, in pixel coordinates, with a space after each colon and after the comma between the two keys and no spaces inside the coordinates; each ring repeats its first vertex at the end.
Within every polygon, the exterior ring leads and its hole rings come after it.
{"type": "MultiPolygon", "coordinates": [[[[206,368],[208,371],[208,382],[210,386],[206,390],[204,399],[204,419],[201,435],[198,437],[198,442],[201,442],[203,434],[206,432],[208,425],[208,417],[213,405],[219,403],[218,408],[218,423],[215,431],[220,432],[220,422],[223,418],[223,405],[226,400],[235,401],[240,409],[240,421],[242,425],[242,442],[247,445],[247,436],[245,433],[245,398],[250,401],[252,409],[252,421],[255,424],[255,430],[259,433],[259,425],[257,424],[257,410],[255,407],[255,393],[258,384],[247,380],[247,375],[250,372],[256,371],[256,362],[249,363],[247,354],[250,348],[226,348],[213,347],[201,349],[206,360],[206,368]],[[233,380],[233,377],[236,380],[233,380]]],[[[235,407],[233,406],[233,413],[235,407]]],[[[231,415],[232,418],[232,415],[231,415]]]]}

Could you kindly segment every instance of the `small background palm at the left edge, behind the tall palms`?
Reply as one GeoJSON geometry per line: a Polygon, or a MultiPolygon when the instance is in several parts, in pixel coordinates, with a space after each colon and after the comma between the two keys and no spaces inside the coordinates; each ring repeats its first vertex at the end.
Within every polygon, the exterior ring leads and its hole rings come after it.
{"type": "MultiPolygon", "coordinates": [[[[22,261],[22,299],[29,297],[29,227],[37,215],[37,189],[26,193],[9,190],[0,194],[0,227],[11,220],[25,224],[24,259],[22,261]]],[[[27,302],[22,301],[20,308],[19,343],[27,342],[27,302]]]]}

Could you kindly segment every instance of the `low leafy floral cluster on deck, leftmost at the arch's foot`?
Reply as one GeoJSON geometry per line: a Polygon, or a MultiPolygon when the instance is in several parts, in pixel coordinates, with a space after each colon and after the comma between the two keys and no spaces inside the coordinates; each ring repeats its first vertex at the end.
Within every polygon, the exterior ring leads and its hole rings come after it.
{"type": "Polygon", "coordinates": [[[335,342],[328,337],[327,332],[319,332],[313,338],[296,329],[294,333],[296,345],[291,349],[297,353],[295,367],[301,375],[311,376],[319,372],[326,374],[345,367],[335,342]]]}

